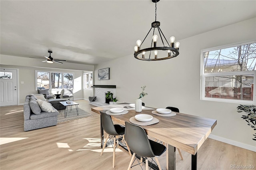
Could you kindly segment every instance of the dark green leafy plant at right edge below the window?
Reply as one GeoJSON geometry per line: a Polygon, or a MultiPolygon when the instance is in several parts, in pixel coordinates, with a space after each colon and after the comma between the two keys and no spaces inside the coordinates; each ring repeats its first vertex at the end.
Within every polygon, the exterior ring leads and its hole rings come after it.
{"type": "MultiPolygon", "coordinates": [[[[256,130],[256,106],[254,105],[240,105],[237,107],[238,113],[246,112],[247,115],[242,115],[242,119],[247,122],[247,125],[256,130]]],[[[253,134],[254,138],[252,140],[256,140],[256,133],[253,134]]]]}

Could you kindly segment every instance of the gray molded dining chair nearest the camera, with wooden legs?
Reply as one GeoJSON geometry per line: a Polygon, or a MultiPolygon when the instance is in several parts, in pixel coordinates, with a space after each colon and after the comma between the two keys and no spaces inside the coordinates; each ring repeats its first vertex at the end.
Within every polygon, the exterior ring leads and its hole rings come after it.
{"type": "Polygon", "coordinates": [[[128,122],[125,122],[124,135],[125,135],[126,143],[130,147],[130,150],[134,152],[127,170],[132,168],[132,164],[134,163],[135,158],[137,156],[141,158],[139,162],[140,166],[143,162],[142,157],[145,158],[144,162],[146,163],[147,170],[148,170],[148,158],[152,158],[152,162],[154,161],[153,158],[155,158],[156,164],[158,165],[159,170],[162,170],[157,157],[161,156],[166,151],[166,147],[163,144],[160,144],[158,142],[148,139],[148,136],[142,127],[128,123],[128,122]]]}

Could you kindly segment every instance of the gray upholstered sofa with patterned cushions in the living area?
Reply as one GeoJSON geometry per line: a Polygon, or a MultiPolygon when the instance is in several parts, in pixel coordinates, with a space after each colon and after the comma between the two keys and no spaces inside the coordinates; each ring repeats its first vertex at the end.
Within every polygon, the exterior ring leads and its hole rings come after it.
{"type": "Polygon", "coordinates": [[[39,105],[36,105],[37,102],[35,99],[35,95],[26,96],[24,103],[24,131],[57,125],[59,112],[55,108],[52,108],[54,112],[39,110],[39,105]]]}

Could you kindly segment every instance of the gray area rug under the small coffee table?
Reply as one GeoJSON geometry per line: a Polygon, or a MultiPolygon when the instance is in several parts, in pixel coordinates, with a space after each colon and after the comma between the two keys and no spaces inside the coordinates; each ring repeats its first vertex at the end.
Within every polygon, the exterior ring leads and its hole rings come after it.
{"type": "Polygon", "coordinates": [[[77,119],[82,119],[82,118],[91,117],[91,116],[93,115],[80,108],[78,108],[78,115],[76,113],[76,107],[73,107],[72,110],[68,108],[68,114],[66,118],[65,118],[65,110],[59,111],[58,123],[62,123],[66,121],[74,121],[77,119]]]}

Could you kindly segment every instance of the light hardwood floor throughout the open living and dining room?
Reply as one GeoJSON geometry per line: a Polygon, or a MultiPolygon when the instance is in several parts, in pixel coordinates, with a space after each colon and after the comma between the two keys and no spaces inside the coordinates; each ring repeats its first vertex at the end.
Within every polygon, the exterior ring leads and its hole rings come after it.
{"type": "MultiPolygon", "coordinates": [[[[100,115],[91,111],[94,106],[88,101],[76,102],[94,116],[27,132],[23,129],[23,106],[0,107],[0,169],[126,170],[131,157],[122,148],[116,151],[115,168],[112,148],[100,156],[100,115]],[[3,144],[6,140],[9,142],[3,144]]],[[[191,156],[181,152],[184,160],[176,152],[176,170],[190,170],[191,156]]],[[[166,169],[165,154],[159,160],[166,169]]],[[[256,169],[256,152],[208,138],[198,151],[197,164],[198,170],[230,170],[231,165],[256,169]]]]}

